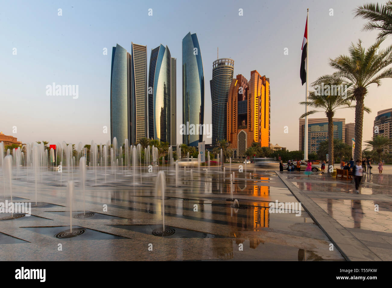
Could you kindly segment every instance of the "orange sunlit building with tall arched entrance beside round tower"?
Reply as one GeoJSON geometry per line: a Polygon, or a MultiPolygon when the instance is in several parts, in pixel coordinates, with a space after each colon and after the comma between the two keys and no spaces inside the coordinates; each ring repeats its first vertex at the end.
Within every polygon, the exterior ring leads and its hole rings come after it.
{"type": "Polygon", "coordinates": [[[253,142],[261,147],[270,144],[269,78],[250,72],[248,81],[242,74],[232,80],[227,101],[227,141],[233,158],[245,156],[253,142]]]}

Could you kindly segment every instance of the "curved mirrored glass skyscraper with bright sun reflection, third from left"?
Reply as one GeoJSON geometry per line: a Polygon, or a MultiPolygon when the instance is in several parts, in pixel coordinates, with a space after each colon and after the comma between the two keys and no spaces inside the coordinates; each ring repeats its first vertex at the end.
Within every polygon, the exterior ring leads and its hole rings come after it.
{"type": "Polygon", "coordinates": [[[164,142],[171,142],[172,133],[171,64],[172,58],[167,46],[161,44],[151,50],[148,91],[149,138],[164,142]]]}

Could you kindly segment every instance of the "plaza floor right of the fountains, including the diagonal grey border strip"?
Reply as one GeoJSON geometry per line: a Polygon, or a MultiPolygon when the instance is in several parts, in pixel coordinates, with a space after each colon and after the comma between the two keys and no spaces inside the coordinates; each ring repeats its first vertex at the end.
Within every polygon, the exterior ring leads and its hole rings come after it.
{"type": "Polygon", "coordinates": [[[347,259],[392,260],[391,174],[366,174],[356,194],[350,180],[277,173],[347,259]]]}

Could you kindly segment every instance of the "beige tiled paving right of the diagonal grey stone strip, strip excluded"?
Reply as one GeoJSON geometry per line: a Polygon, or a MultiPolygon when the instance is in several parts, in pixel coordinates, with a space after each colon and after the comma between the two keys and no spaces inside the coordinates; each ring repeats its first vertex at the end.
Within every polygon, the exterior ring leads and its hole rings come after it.
{"type": "Polygon", "coordinates": [[[392,175],[367,174],[355,193],[350,179],[328,178],[319,173],[310,178],[279,174],[310,197],[330,217],[345,227],[359,247],[374,253],[374,260],[392,260],[392,175]]]}

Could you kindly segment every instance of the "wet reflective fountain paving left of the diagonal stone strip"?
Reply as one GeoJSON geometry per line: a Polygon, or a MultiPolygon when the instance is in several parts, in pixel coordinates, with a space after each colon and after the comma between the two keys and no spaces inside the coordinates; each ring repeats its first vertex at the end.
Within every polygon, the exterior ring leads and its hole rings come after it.
{"type": "Polygon", "coordinates": [[[26,171],[20,169],[12,183],[13,200],[30,200],[32,205],[37,201],[37,205],[28,220],[0,221],[2,259],[18,260],[17,255],[23,254],[24,260],[51,261],[345,260],[339,250],[330,251],[330,239],[303,207],[294,210],[298,201],[275,172],[223,172],[211,167],[206,175],[194,167],[192,177],[187,168],[176,180],[173,169],[163,170],[165,227],[174,232],[162,236],[162,231],[156,231],[163,226],[156,168],[148,173],[142,167],[142,174],[137,169],[133,174],[132,167],[120,168],[114,175],[108,167],[106,176],[102,167],[88,169],[84,197],[77,169],[70,173],[65,168],[61,175],[43,171],[37,192],[31,172],[27,179],[26,171]],[[74,181],[72,217],[67,205],[68,180],[74,181]],[[227,201],[230,198],[237,199],[238,205],[227,201]],[[293,206],[270,210],[271,202],[293,206]],[[77,235],[67,232],[71,220],[77,235]],[[56,238],[58,233],[64,238],[56,238]]]}

